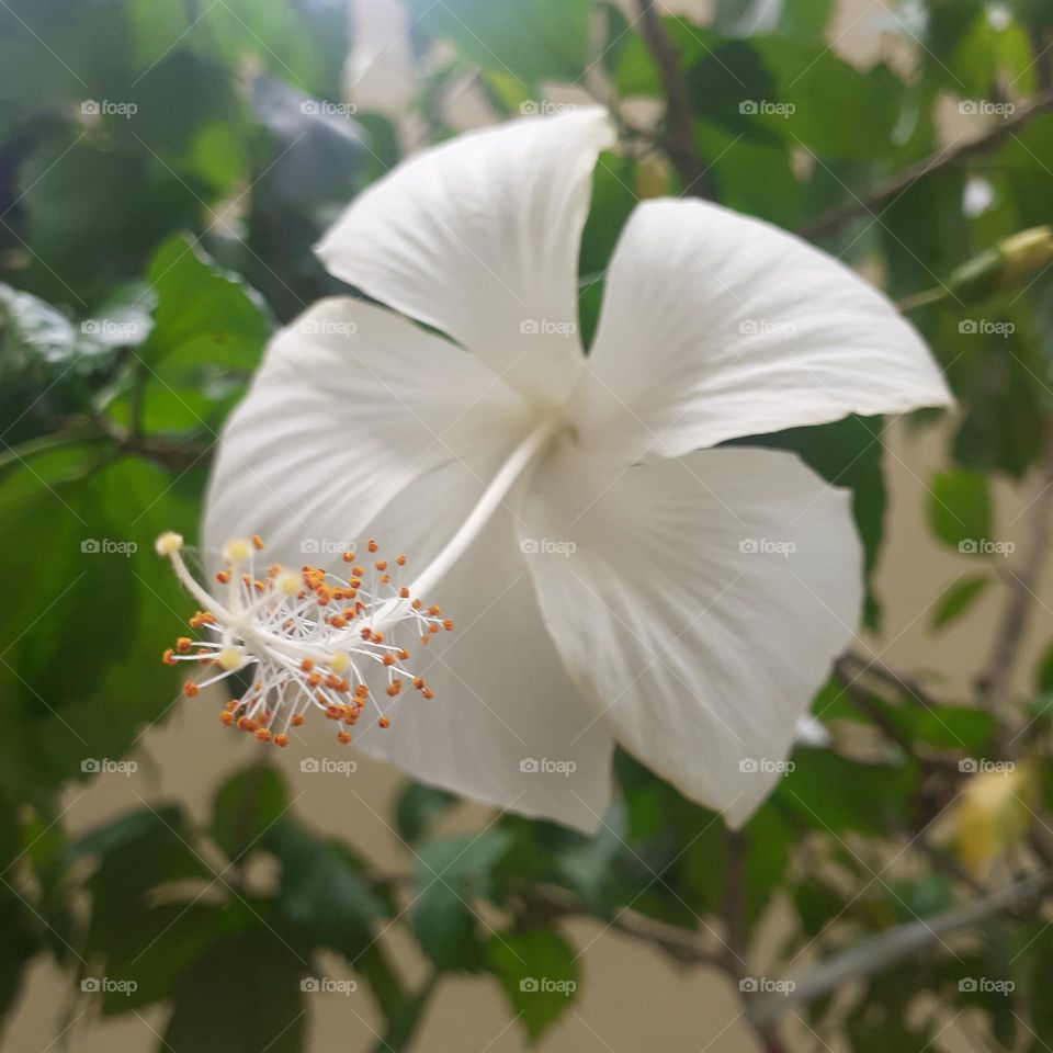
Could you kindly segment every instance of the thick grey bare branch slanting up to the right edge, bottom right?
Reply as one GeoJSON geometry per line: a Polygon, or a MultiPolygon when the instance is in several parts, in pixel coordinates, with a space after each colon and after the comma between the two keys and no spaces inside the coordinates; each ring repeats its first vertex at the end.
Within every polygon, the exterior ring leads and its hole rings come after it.
{"type": "Polygon", "coordinates": [[[765,993],[751,999],[750,1019],[765,1027],[781,1014],[804,1001],[819,998],[852,980],[881,972],[896,962],[914,958],[942,940],[949,932],[969,928],[988,918],[1011,910],[1046,893],[1053,874],[1032,874],[964,907],[956,907],[935,918],[922,918],[896,926],[879,936],[823,959],[797,975],[791,975],[784,994],[765,993]]]}

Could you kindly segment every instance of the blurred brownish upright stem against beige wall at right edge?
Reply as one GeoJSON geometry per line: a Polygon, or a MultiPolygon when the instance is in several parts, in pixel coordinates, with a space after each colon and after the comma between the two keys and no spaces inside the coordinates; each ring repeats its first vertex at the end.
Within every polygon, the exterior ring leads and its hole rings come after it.
{"type": "Polygon", "coordinates": [[[1031,506],[1027,551],[1020,558],[1019,568],[1010,569],[1009,601],[995,632],[987,666],[976,679],[980,702],[988,710],[997,705],[1009,689],[1034,609],[1039,576],[1053,541],[1053,438],[1046,441],[1041,483],[1042,489],[1031,506]]]}

